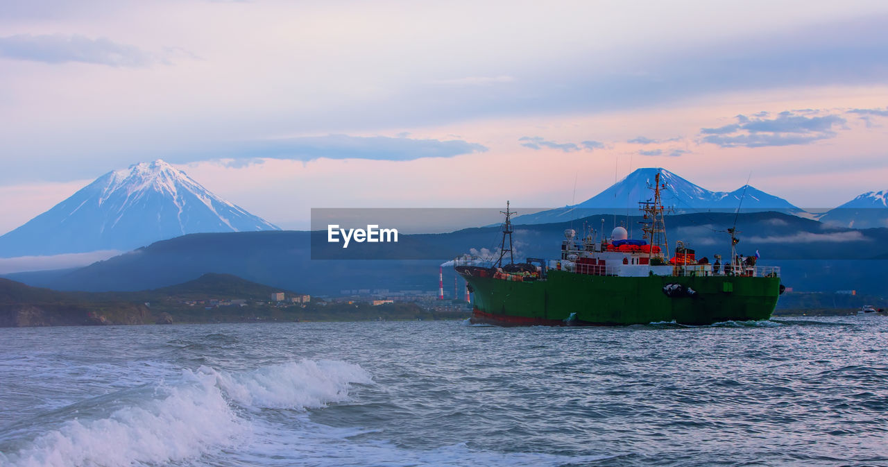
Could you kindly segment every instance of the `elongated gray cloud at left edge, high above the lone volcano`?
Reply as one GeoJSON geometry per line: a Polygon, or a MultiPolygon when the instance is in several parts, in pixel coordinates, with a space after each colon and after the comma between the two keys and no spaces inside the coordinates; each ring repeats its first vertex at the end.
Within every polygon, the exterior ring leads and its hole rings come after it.
{"type": "Polygon", "coordinates": [[[19,34],[0,37],[0,56],[8,59],[66,63],[69,61],[111,67],[145,67],[152,56],[134,45],[117,44],[106,37],[19,34]]]}

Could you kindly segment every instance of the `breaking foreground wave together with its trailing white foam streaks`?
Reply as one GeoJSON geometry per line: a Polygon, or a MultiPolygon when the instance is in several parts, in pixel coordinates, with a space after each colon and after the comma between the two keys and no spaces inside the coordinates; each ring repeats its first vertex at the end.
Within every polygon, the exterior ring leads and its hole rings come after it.
{"type": "MultiPolygon", "coordinates": [[[[145,399],[108,416],[73,418],[10,455],[4,467],[132,465],[548,466],[595,463],[606,456],[501,453],[464,443],[408,449],[374,431],[314,423],[305,413],[348,400],[351,384],[372,384],[358,365],[303,360],[244,372],[202,367],[173,384],[145,388],[145,399]],[[266,409],[295,411],[287,423],[266,409]]],[[[83,403],[83,402],[82,402],[83,403]]]]}

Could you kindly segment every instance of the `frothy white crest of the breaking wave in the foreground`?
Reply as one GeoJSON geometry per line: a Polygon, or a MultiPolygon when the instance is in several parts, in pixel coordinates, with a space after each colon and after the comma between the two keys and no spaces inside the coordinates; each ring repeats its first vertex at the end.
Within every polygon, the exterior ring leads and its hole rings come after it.
{"type": "Polygon", "coordinates": [[[11,467],[117,466],[169,463],[243,442],[246,408],[321,408],[348,398],[350,383],[370,383],[369,374],[341,361],[304,360],[228,373],[186,370],[176,384],[158,384],[146,399],[109,416],[73,418],[17,452],[0,453],[11,467]]]}

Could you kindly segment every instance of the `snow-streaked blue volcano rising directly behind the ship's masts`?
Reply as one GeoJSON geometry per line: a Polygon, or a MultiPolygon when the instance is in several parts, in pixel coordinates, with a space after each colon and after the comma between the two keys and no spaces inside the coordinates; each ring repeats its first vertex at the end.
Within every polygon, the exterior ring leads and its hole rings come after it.
{"type": "Polygon", "coordinates": [[[666,184],[662,190],[662,203],[677,214],[705,210],[731,211],[740,208],[744,212],[776,210],[798,214],[804,212],[788,201],[767,194],[754,186],[741,186],[732,192],[714,192],[695,185],[685,178],[661,168],[642,168],[633,171],[625,178],[596,194],[590,199],[556,210],[545,210],[515,218],[520,224],[543,224],[582,218],[592,214],[607,212],[638,213],[638,202],[651,199],[654,177],[660,172],[660,182],[666,184]],[[741,204],[742,200],[742,204],[741,204]]]}

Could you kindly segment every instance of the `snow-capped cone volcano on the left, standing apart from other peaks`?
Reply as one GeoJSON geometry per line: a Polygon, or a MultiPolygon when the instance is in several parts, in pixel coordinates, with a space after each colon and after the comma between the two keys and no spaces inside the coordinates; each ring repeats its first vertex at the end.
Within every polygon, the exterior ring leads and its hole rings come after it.
{"type": "Polygon", "coordinates": [[[184,234],[280,230],[167,162],[114,170],[0,236],[0,257],[133,249],[184,234]]]}

